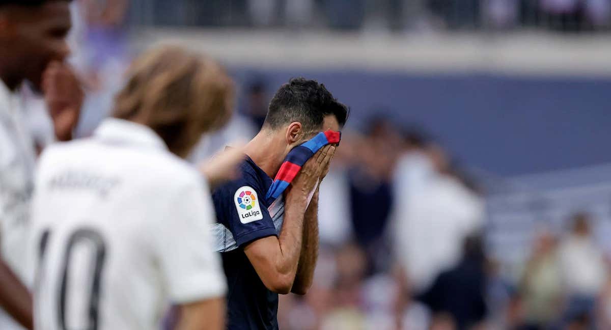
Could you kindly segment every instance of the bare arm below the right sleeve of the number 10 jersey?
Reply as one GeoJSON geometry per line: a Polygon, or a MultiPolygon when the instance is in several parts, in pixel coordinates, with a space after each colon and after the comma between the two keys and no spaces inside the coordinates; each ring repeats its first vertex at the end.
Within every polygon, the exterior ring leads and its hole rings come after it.
{"type": "Polygon", "coordinates": [[[176,330],[225,329],[225,299],[215,298],[180,306],[176,330]]]}

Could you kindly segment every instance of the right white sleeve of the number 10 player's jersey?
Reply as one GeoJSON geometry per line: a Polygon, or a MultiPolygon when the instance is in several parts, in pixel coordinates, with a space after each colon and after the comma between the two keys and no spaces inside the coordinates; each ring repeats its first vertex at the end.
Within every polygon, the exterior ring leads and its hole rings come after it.
{"type": "Polygon", "coordinates": [[[170,196],[155,242],[170,299],[178,304],[218,298],[227,290],[210,237],[214,221],[210,193],[197,183],[170,196]]]}

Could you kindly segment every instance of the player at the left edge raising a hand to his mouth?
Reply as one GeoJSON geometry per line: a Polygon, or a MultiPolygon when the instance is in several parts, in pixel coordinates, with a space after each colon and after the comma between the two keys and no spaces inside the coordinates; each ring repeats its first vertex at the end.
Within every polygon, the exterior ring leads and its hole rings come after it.
{"type": "MultiPolygon", "coordinates": [[[[49,112],[53,118],[57,139],[68,140],[76,126],[79,109],[82,103],[82,90],[74,73],[64,63],[68,56],[68,45],[65,36],[70,29],[70,1],[62,0],[1,0],[0,1],[0,94],[8,98],[15,97],[23,81],[31,82],[39,92],[45,92],[49,112]]],[[[29,293],[13,273],[20,271],[23,258],[17,255],[24,251],[23,237],[27,229],[27,215],[16,215],[18,208],[29,208],[31,186],[22,188],[9,185],[6,180],[16,177],[16,172],[32,177],[27,162],[34,161],[33,150],[28,150],[27,139],[15,133],[21,122],[9,119],[10,115],[20,116],[16,103],[2,102],[0,95],[0,134],[4,141],[0,163],[18,164],[12,168],[0,167],[0,222],[2,223],[2,258],[0,261],[0,306],[26,328],[32,328],[32,303],[29,293]],[[3,104],[4,103],[4,104],[3,104]],[[10,115],[9,115],[10,114],[10,115]],[[6,134],[4,134],[6,133],[6,134]],[[8,145],[7,145],[8,144],[8,145]],[[7,150],[10,149],[10,150],[7,150]],[[14,151],[14,152],[13,152],[14,151]],[[16,155],[19,159],[10,159],[16,155]],[[9,159],[7,159],[7,157],[9,159]],[[27,161],[24,161],[27,160],[27,161]],[[21,164],[21,166],[19,165],[21,164]],[[5,180],[6,179],[6,180],[5,180]],[[21,196],[18,202],[10,196],[21,196]],[[24,206],[21,207],[23,204],[24,206]],[[27,205],[26,205],[27,204],[27,205]],[[3,210],[4,208],[4,210],[3,210]],[[26,219],[25,221],[17,218],[26,219]],[[18,228],[16,228],[18,227],[18,228]],[[13,244],[14,243],[14,244],[13,244]],[[13,254],[14,251],[17,251],[13,254]],[[8,259],[11,259],[10,266],[8,259]]],[[[26,133],[24,133],[26,134],[26,133]]],[[[27,134],[26,134],[27,135],[27,134]]],[[[31,149],[31,148],[30,148],[31,149]]],[[[2,328],[13,328],[0,320],[2,328]]]]}

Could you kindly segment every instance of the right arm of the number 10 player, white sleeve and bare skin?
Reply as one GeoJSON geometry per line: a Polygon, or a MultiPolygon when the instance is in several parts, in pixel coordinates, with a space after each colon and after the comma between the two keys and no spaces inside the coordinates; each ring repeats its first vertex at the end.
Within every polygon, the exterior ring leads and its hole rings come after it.
{"type": "Polygon", "coordinates": [[[197,175],[180,178],[183,188],[166,191],[168,203],[156,219],[152,244],[169,287],[170,301],[180,306],[178,329],[224,329],[227,290],[219,255],[211,243],[214,208],[197,175]],[[167,221],[172,219],[172,221],[167,221]]]}

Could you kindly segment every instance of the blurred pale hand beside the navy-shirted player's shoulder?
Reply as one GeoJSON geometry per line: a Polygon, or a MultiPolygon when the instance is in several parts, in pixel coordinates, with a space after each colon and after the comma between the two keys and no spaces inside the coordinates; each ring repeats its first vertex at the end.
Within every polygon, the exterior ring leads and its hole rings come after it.
{"type": "Polygon", "coordinates": [[[214,155],[210,160],[200,164],[200,172],[208,178],[210,189],[224,182],[238,178],[238,167],[246,159],[243,148],[229,148],[214,155]]]}

